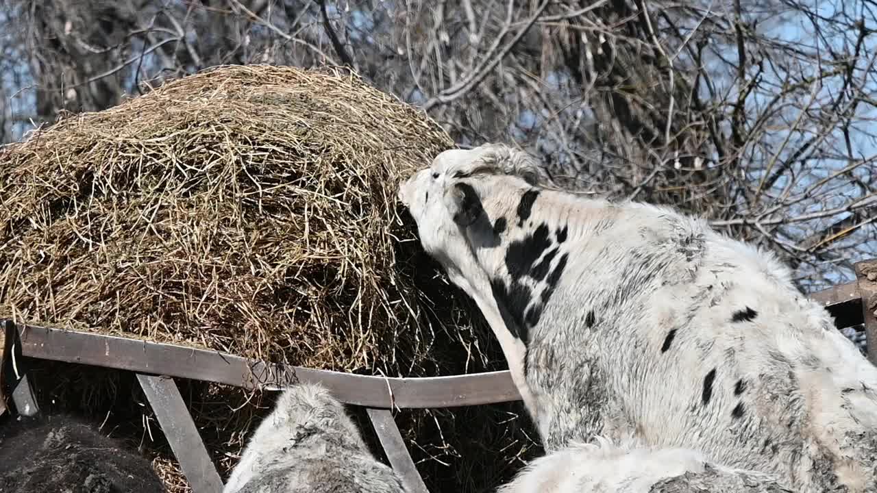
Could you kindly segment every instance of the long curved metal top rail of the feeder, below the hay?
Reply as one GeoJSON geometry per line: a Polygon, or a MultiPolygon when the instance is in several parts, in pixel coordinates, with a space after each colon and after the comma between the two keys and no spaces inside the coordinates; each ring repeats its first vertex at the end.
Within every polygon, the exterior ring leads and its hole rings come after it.
{"type": "Polygon", "coordinates": [[[225,383],[247,389],[280,388],[290,382],[316,382],[322,383],[341,402],[365,407],[459,407],[520,399],[508,371],[384,378],[271,365],[233,354],[95,332],[36,325],[18,325],[17,330],[22,351],[32,358],[225,383]]]}

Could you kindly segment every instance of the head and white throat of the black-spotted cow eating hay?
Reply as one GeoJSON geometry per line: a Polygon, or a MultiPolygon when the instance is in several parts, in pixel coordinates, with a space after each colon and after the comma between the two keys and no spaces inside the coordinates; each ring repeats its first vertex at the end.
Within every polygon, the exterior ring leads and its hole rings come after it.
{"type": "Polygon", "coordinates": [[[429,168],[403,182],[398,193],[417,222],[424,250],[474,299],[495,332],[534,418],[535,404],[524,382],[525,338],[496,290],[506,285],[497,279],[508,276],[501,234],[509,220],[520,218],[521,197],[546,182],[529,155],[488,144],[439,154],[429,168]]]}

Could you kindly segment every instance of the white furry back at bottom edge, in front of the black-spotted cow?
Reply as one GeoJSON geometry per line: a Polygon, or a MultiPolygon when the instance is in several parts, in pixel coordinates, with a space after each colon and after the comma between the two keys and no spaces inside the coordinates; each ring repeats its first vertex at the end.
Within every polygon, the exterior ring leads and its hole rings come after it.
{"type": "Polygon", "coordinates": [[[496,493],[792,493],[775,475],[725,468],[694,450],[595,441],[531,461],[496,493]]]}

